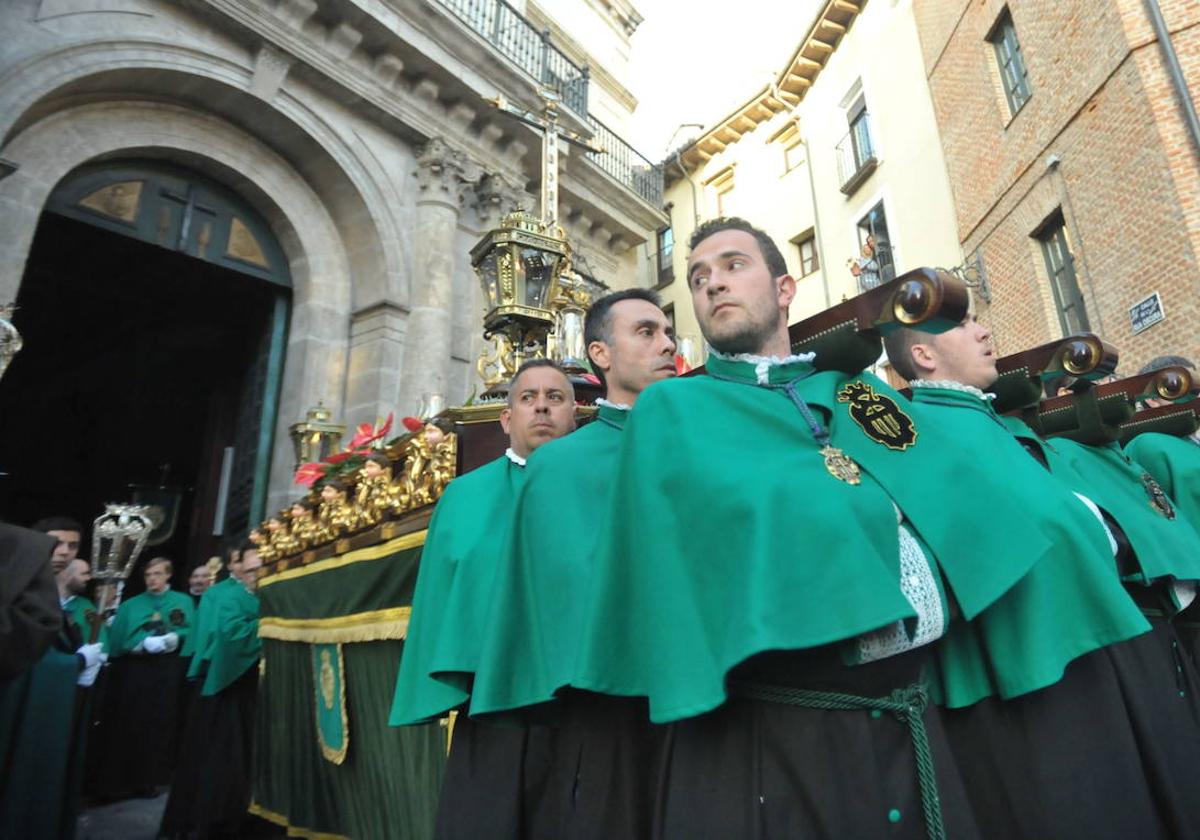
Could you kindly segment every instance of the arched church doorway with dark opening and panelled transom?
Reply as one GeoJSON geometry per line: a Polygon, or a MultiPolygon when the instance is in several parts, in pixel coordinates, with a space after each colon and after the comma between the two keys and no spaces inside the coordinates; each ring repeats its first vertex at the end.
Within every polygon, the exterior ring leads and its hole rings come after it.
{"type": "Polygon", "coordinates": [[[172,558],[182,588],[263,516],[289,301],[278,242],[232,191],[156,162],[68,176],[0,379],[0,518],[88,528],[108,502],[158,504],[143,557],[172,558]]]}

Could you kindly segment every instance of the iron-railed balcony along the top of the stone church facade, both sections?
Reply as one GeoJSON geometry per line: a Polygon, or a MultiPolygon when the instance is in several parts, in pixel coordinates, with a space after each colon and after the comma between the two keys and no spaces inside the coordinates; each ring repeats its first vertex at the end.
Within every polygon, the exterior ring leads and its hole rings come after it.
{"type": "Polygon", "coordinates": [[[563,104],[592,128],[605,152],[589,155],[608,175],[658,210],[662,206],[662,169],[642,157],[611,128],[588,113],[588,68],[578,67],[546,34],[539,32],[504,0],[438,0],[526,73],[558,91],[563,104]]]}

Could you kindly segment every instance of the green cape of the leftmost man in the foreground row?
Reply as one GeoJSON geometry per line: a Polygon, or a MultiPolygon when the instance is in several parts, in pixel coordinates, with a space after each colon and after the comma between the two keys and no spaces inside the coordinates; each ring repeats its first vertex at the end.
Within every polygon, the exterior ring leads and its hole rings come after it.
{"type": "Polygon", "coordinates": [[[470,696],[492,582],[523,481],[524,468],[500,456],[451,481],[434,508],[388,719],[392,726],[439,718],[470,696]]]}

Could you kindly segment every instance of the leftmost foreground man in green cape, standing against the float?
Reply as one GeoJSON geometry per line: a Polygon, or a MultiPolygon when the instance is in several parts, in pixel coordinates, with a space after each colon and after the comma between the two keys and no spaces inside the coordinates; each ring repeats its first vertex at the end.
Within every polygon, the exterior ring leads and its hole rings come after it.
{"type": "MultiPolygon", "coordinates": [[[[454,479],[421,551],[413,617],[389,722],[420,724],[464,707],[479,662],[502,548],[526,460],[575,428],[575,392],[557,365],[524,362],[509,384],[503,456],[454,479]]],[[[458,715],[438,804],[439,838],[524,836],[521,768],[545,754],[545,727],[494,726],[458,715]],[[463,809],[460,796],[484,792],[463,809]]]]}

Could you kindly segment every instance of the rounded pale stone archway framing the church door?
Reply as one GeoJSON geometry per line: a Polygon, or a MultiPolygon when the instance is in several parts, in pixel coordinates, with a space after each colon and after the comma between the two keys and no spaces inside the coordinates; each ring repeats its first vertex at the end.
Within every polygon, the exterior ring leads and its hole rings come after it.
{"type": "Polygon", "coordinates": [[[328,209],[308,184],[254,137],[212,116],[156,102],[59,110],[5,146],[19,169],[0,181],[0,300],[13,300],[38,217],[54,186],[79,166],[112,157],[176,161],[241,196],[271,226],[294,283],[268,508],[290,490],[287,425],[317,400],[344,402],[350,263],[328,209]]]}

